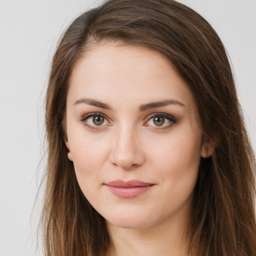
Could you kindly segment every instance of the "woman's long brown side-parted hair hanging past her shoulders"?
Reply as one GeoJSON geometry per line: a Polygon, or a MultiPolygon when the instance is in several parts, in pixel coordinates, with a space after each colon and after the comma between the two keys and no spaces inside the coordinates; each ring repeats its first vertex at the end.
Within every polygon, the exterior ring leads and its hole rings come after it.
{"type": "Polygon", "coordinates": [[[100,256],[104,219],[82,194],[64,144],[65,104],[74,64],[104,41],[150,47],[167,57],[192,91],[205,139],[187,237],[189,255],[256,255],[255,158],[230,64],[213,28],[174,0],[108,0],[77,17],[55,51],[46,101],[48,162],[42,226],[45,255],[100,256]]]}

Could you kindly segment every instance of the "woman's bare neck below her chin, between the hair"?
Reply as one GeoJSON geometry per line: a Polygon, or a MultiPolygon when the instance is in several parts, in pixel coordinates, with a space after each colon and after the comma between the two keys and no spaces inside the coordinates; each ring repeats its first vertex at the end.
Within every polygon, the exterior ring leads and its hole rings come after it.
{"type": "Polygon", "coordinates": [[[110,238],[106,256],[186,256],[185,222],[180,214],[145,228],[123,228],[106,221],[110,238]]]}

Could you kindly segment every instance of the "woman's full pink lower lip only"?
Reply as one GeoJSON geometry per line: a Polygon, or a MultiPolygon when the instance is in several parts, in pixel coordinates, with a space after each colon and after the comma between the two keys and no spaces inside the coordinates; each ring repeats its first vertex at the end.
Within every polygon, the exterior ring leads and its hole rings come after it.
{"type": "Polygon", "coordinates": [[[147,186],[131,186],[131,187],[119,187],[107,185],[108,189],[116,196],[121,198],[133,198],[146,191],[148,191],[153,185],[147,186]]]}

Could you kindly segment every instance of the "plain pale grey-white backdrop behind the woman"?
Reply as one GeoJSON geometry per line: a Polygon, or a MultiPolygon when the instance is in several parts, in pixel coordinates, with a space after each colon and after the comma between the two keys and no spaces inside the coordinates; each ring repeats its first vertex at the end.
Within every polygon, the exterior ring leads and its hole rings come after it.
{"type": "MultiPolygon", "coordinates": [[[[224,43],[255,150],[256,0],[180,1],[202,14],[224,43]]],[[[32,217],[31,211],[45,152],[49,62],[67,24],[100,2],[0,0],[0,256],[42,255],[34,249],[40,200],[32,217]]]]}

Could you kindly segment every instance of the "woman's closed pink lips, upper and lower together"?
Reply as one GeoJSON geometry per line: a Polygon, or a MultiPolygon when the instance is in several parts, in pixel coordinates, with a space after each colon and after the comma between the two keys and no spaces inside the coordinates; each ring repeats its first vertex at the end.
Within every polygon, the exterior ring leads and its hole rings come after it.
{"type": "Polygon", "coordinates": [[[128,181],[113,180],[104,183],[114,195],[121,198],[133,198],[148,191],[154,184],[132,179],[128,181]]]}

